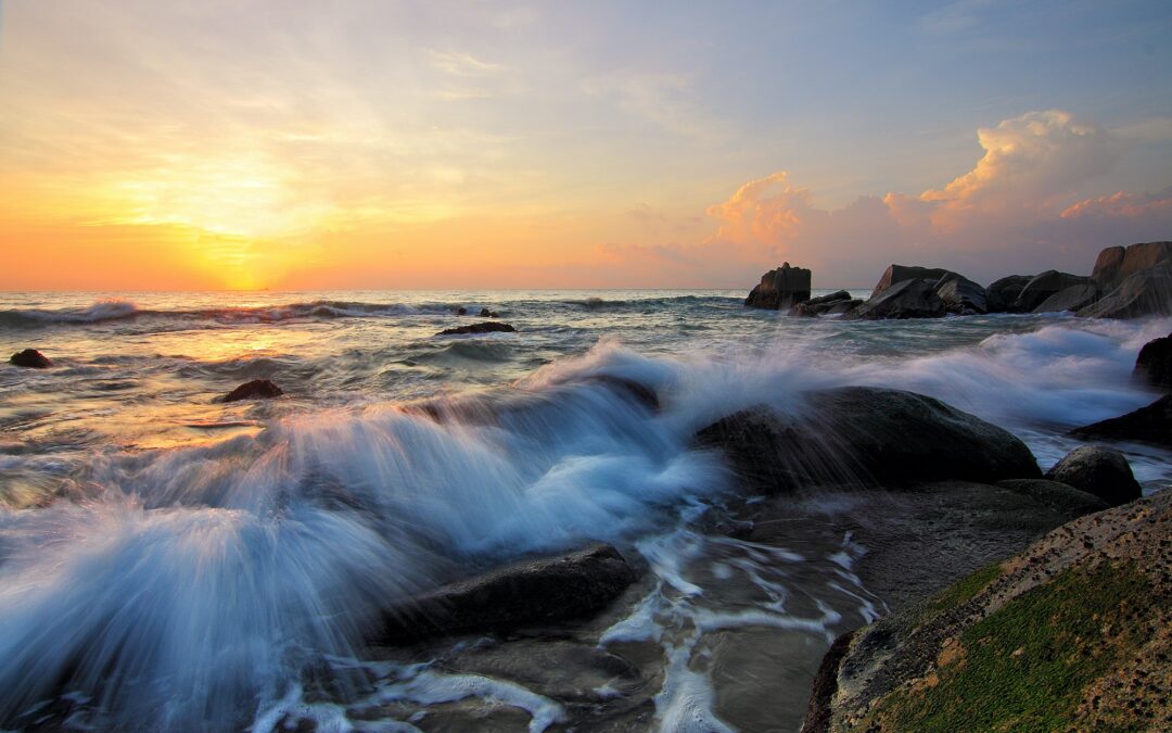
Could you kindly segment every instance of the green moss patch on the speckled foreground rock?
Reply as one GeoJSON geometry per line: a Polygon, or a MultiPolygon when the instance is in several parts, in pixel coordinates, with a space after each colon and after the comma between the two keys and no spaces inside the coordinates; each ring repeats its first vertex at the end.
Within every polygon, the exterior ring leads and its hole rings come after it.
{"type": "Polygon", "coordinates": [[[888,695],[877,718],[898,731],[1069,727],[1083,690],[1144,643],[1152,598],[1130,563],[1062,572],[965,631],[934,686],[888,695]]]}

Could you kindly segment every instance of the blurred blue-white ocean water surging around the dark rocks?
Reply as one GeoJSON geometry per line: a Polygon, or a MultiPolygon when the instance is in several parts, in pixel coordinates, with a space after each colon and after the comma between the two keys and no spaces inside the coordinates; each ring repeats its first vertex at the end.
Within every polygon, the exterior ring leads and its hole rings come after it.
{"type": "MultiPolygon", "coordinates": [[[[850,571],[866,548],[707,532],[737,487],[694,433],[810,388],[895,387],[1009,429],[1044,470],[1079,444],[1070,428],[1154,400],[1131,368],[1172,331],[802,319],[744,294],[0,293],[0,353],[55,364],[0,367],[0,720],[49,720],[64,678],[69,720],[97,728],[572,727],[573,694],[442,661],[464,650],[372,654],[362,629],[395,599],[599,539],[650,569],[590,640],[656,650],[656,727],[796,727],[830,639],[884,608],[850,571]],[[437,335],[481,308],[517,332],[437,335]],[[217,401],[252,379],[285,396],[217,401]],[[359,681],[316,684],[322,668],[359,681]]],[[[1145,491],[1172,484],[1166,452],[1125,448],[1145,491]]],[[[616,679],[591,687],[597,706],[616,679]]]]}

